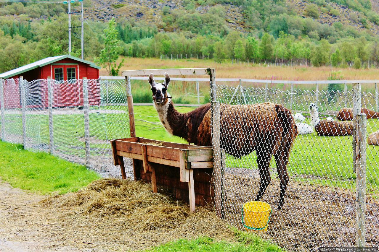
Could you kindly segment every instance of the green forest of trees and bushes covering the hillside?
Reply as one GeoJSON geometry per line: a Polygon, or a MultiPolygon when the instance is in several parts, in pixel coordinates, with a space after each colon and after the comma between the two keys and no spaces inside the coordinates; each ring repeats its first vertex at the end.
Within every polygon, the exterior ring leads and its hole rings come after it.
{"type": "MultiPolygon", "coordinates": [[[[370,0],[309,1],[303,16],[284,0],[184,0],[182,4],[183,9],[163,6],[157,24],[115,19],[111,25],[116,29],[119,54],[356,68],[379,65],[379,36],[370,30],[370,23],[379,24],[379,16],[371,10],[370,0]],[[240,6],[244,29],[228,26],[231,21],[226,18],[224,5],[231,2],[240,6]],[[365,28],[318,22],[320,12],[338,16],[332,2],[354,9],[359,15],[351,18],[365,28]],[[207,12],[198,11],[202,5],[209,7],[207,12]]],[[[0,72],[67,54],[67,4],[1,3],[0,14],[0,57],[7,59],[0,61],[0,72]]],[[[72,23],[80,25],[78,15],[73,15],[72,23]]],[[[106,43],[103,33],[109,26],[109,21],[85,21],[85,59],[98,60],[106,43]]],[[[74,29],[73,35],[72,55],[80,56],[80,39],[75,37],[80,29],[74,29]]]]}

